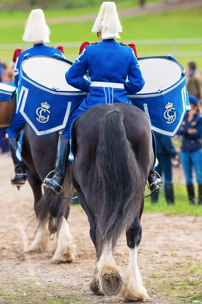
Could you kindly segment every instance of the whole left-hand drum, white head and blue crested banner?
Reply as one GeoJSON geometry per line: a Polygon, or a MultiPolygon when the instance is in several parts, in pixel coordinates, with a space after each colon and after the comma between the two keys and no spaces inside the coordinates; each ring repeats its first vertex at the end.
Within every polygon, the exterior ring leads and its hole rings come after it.
{"type": "Polygon", "coordinates": [[[65,129],[72,111],[86,97],[66,82],[71,65],[64,58],[46,56],[25,57],[21,64],[17,110],[37,136],[65,129]]]}

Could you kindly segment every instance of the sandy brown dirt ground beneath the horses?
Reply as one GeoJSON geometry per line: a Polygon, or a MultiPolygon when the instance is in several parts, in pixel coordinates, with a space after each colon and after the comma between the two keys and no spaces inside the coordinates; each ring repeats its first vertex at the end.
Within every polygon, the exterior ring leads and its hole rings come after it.
{"type": "MultiPolygon", "coordinates": [[[[52,264],[48,253],[24,253],[35,231],[30,224],[33,195],[28,183],[20,192],[10,185],[12,170],[11,158],[0,156],[0,303],[122,303],[118,296],[98,297],[89,291],[95,250],[79,207],[71,207],[68,220],[77,252],[73,263],[52,264]]],[[[143,214],[141,223],[138,263],[149,303],[201,303],[202,219],[143,214]]],[[[125,239],[116,261],[126,269],[125,239]]]]}

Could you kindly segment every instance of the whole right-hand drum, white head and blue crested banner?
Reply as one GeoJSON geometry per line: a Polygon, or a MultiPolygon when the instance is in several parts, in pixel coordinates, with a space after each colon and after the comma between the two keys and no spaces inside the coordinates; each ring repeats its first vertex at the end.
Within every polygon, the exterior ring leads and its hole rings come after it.
{"type": "Polygon", "coordinates": [[[138,63],[145,85],[128,97],[147,114],[153,131],[173,137],[190,111],[185,70],[170,55],[138,58],[138,63]]]}

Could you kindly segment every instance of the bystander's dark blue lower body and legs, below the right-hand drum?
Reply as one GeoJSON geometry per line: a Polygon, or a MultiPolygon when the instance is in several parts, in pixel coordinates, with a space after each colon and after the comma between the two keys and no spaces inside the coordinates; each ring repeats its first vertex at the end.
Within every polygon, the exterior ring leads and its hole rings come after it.
{"type": "MultiPolygon", "coordinates": [[[[174,204],[174,193],[172,184],[172,162],[171,159],[176,158],[175,147],[170,137],[155,133],[157,143],[157,158],[159,165],[156,171],[162,176],[164,173],[165,180],[165,196],[168,204],[174,204]]],[[[156,203],[158,201],[158,192],[151,197],[151,202],[156,203]]]]}

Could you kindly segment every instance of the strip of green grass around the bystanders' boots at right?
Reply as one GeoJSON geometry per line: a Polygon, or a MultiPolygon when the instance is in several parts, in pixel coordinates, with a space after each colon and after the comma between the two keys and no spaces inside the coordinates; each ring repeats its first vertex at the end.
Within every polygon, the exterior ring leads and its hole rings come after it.
{"type": "MultiPolygon", "coordinates": [[[[195,188],[197,193],[197,188],[195,188]]],[[[147,194],[147,193],[146,193],[147,194]]],[[[165,213],[178,215],[197,215],[202,216],[202,206],[189,205],[186,192],[186,185],[175,183],[174,185],[175,205],[168,205],[164,194],[160,191],[158,203],[151,204],[150,198],[145,199],[144,212],[165,213]]]]}

